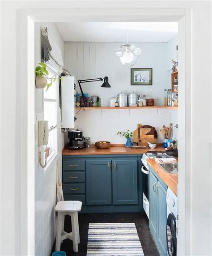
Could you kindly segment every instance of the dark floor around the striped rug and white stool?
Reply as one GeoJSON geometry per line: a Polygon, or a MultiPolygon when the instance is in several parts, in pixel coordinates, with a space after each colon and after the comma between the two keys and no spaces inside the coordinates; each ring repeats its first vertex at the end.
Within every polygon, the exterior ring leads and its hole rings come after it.
{"type": "MultiPolygon", "coordinates": [[[[157,247],[153,241],[148,227],[148,218],[145,213],[80,213],[79,228],[80,228],[80,244],[78,244],[79,252],[73,251],[72,241],[69,239],[61,243],[61,251],[66,252],[67,256],[86,256],[87,239],[89,223],[135,223],[137,232],[143,247],[145,256],[159,256],[157,247]]],[[[66,232],[71,232],[71,217],[66,215],[65,228],[66,232]]],[[[55,247],[54,247],[55,249],[55,247]]]]}

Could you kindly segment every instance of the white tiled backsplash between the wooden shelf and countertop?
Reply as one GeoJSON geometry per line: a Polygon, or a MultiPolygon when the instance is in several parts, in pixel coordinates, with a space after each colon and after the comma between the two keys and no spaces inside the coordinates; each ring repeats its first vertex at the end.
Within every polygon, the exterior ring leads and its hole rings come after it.
{"type": "Polygon", "coordinates": [[[117,136],[118,131],[134,131],[137,124],[152,125],[157,129],[158,143],[162,143],[160,129],[163,125],[173,124],[173,138],[178,139],[178,110],[169,109],[123,109],[123,110],[85,110],[76,115],[76,128],[83,129],[83,136],[91,141],[110,141],[125,143],[124,137],[117,136]]]}

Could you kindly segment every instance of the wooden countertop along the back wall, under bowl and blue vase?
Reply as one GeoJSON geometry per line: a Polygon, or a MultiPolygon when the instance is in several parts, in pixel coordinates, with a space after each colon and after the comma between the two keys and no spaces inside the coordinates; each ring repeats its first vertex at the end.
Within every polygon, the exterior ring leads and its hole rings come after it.
{"type": "Polygon", "coordinates": [[[155,149],[135,149],[135,148],[125,148],[124,145],[112,145],[109,149],[97,149],[92,146],[90,149],[79,149],[71,150],[64,148],[62,150],[63,156],[74,156],[74,155],[116,155],[116,154],[144,154],[147,151],[165,151],[165,149],[158,145],[155,149]]]}

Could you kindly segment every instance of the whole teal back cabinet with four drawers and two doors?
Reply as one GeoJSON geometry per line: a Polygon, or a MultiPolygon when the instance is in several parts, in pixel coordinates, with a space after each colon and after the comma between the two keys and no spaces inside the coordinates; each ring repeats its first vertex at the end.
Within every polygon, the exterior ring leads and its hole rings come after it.
{"type": "Polygon", "coordinates": [[[63,156],[64,200],[81,213],[142,212],[142,155],[63,156]]]}

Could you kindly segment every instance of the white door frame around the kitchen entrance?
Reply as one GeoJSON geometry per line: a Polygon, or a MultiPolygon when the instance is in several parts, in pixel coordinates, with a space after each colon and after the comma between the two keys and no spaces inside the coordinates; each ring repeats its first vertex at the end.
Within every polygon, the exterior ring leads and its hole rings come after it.
{"type": "MultiPolygon", "coordinates": [[[[113,3],[114,6],[116,5],[113,3]]],[[[125,4],[125,3],[123,3],[125,4]]],[[[67,4],[68,5],[68,4],[67,4]]],[[[190,255],[191,174],[191,9],[155,8],[143,2],[136,9],[27,9],[20,10],[18,39],[21,51],[21,255],[34,255],[34,22],[71,21],[179,21],[179,80],[185,87],[179,94],[179,255],[190,255]],[[146,6],[146,7],[145,7],[146,6]],[[140,15],[140,13],[145,13],[140,15]],[[101,15],[102,14],[102,15],[101,15]],[[186,61],[187,60],[187,61],[186,61]],[[27,72],[26,72],[27,71],[27,72]],[[185,104],[187,102],[187,104],[185,104]],[[27,135],[27,136],[26,136],[27,135]],[[27,157],[26,157],[27,156],[27,157]],[[184,173],[184,175],[182,175],[184,173]],[[187,179],[187,181],[190,179],[187,179]]],[[[111,4],[112,6],[112,4],[111,4]]],[[[171,6],[171,5],[170,5],[171,6]]],[[[82,8],[82,7],[81,7],[82,8]]],[[[181,87],[182,89],[182,87],[181,87]]]]}

